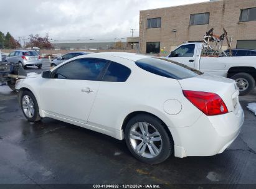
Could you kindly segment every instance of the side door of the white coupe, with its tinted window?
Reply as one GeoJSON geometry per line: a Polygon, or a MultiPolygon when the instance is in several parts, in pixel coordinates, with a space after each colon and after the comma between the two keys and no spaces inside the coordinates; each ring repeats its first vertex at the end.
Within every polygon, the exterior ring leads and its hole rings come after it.
{"type": "Polygon", "coordinates": [[[87,123],[107,60],[80,58],[52,71],[40,88],[45,113],[87,123]]]}

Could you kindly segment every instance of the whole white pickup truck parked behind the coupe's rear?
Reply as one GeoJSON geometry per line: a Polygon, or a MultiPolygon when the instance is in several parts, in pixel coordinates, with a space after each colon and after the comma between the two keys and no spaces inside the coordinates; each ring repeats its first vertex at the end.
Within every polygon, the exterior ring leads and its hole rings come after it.
{"type": "Polygon", "coordinates": [[[201,57],[201,52],[201,43],[187,43],[179,45],[165,58],[205,73],[232,78],[237,83],[240,95],[249,94],[254,90],[256,56],[201,57]]]}

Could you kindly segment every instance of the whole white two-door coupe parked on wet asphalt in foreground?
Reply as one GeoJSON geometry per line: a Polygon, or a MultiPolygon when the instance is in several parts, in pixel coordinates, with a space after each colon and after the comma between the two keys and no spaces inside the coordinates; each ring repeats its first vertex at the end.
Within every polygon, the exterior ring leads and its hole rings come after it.
{"type": "Polygon", "coordinates": [[[125,139],[148,164],[173,152],[222,153],[244,122],[234,80],[133,53],[75,57],[17,81],[16,90],[28,121],[49,117],[125,139]]]}

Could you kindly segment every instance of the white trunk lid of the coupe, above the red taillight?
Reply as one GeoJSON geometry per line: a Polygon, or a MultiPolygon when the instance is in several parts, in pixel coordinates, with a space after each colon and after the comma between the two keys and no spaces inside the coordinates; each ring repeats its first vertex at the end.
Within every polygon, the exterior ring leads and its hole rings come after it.
{"type": "Polygon", "coordinates": [[[238,111],[239,90],[234,80],[204,73],[193,78],[178,80],[183,90],[216,93],[222,98],[229,112],[238,111]]]}

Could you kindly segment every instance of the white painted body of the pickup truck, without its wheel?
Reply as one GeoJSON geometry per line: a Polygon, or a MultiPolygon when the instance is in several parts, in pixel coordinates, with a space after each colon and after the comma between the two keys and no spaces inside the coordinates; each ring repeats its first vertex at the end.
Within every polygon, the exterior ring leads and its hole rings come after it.
{"type": "MultiPolygon", "coordinates": [[[[171,53],[166,57],[169,60],[174,60],[183,63],[188,67],[200,70],[204,73],[223,76],[231,78],[236,73],[249,73],[252,78],[256,80],[256,56],[244,57],[201,57],[202,44],[201,43],[187,43],[179,45],[178,48],[187,47],[187,45],[194,45],[190,55],[182,55],[181,57],[172,57],[171,53]]],[[[254,81],[255,87],[255,81],[254,81]]],[[[252,88],[254,88],[252,87],[252,88]]]]}

